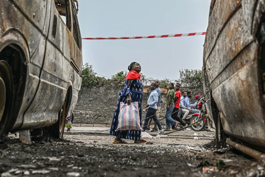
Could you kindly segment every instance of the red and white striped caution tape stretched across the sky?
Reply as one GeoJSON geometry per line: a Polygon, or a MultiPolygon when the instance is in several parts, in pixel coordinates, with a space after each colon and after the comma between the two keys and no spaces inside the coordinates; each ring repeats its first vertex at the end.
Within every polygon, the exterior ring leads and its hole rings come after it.
{"type": "Polygon", "coordinates": [[[185,34],[167,34],[158,36],[136,36],[136,37],[85,37],[82,39],[143,39],[143,38],[161,38],[161,37],[180,37],[180,36],[198,36],[205,35],[206,32],[200,33],[185,33],[185,34]]]}

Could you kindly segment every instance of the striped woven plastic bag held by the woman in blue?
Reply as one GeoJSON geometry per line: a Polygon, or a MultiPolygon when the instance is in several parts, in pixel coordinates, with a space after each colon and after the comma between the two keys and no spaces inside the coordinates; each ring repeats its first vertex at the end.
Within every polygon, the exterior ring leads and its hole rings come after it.
{"type": "Polygon", "coordinates": [[[138,102],[131,102],[130,105],[120,102],[120,113],[118,120],[119,124],[116,131],[143,130],[140,126],[138,102]]]}

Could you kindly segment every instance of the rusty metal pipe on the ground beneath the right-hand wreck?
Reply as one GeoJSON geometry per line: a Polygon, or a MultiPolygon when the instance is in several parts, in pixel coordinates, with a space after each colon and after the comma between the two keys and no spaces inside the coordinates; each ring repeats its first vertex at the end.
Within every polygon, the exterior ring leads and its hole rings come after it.
{"type": "Polygon", "coordinates": [[[257,160],[265,159],[265,154],[264,153],[259,152],[259,151],[255,150],[255,149],[249,148],[249,147],[247,147],[245,145],[239,144],[239,143],[237,143],[235,141],[232,141],[230,138],[226,139],[226,143],[229,146],[231,146],[231,147],[241,151],[242,153],[247,154],[248,156],[253,157],[253,158],[257,159],[257,160]]]}

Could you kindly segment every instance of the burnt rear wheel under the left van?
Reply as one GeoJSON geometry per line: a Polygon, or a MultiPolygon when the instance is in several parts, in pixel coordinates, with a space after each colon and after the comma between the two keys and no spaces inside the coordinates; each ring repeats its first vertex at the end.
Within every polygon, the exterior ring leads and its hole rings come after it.
{"type": "Polygon", "coordinates": [[[66,107],[64,103],[61,110],[58,113],[57,122],[47,127],[49,134],[51,134],[55,138],[63,138],[65,118],[66,118],[66,107]]]}

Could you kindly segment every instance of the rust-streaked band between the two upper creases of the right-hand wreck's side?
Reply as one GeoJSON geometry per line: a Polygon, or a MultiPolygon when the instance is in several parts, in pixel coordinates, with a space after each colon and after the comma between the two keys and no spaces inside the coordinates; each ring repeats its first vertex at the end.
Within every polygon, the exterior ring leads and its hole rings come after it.
{"type": "Polygon", "coordinates": [[[220,34],[213,52],[206,60],[210,83],[253,40],[254,38],[244,22],[242,9],[240,9],[229,20],[220,34]]]}

